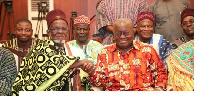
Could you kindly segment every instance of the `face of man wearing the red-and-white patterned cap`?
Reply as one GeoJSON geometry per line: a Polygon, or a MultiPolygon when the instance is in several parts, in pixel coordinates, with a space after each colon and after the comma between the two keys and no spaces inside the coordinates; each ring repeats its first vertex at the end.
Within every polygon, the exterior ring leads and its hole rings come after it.
{"type": "Polygon", "coordinates": [[[79,43],[87,42],[89,31],[90,31],[90,25],[89,24],[74,25],[74,31],[75,31],[76,40],[79,43]]]}

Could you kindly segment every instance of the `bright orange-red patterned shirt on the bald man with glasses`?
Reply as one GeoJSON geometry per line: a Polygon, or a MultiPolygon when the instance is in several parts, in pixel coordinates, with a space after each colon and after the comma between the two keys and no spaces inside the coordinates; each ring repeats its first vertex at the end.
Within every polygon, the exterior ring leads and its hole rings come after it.
{"type": "Polygon", "coordinates": [[[89,78],[94,86],[109,91],[165,90],[167,71],[152,46],[133,40],[127,52],[117,50],[116,43],[103,48],[89,78]]]}

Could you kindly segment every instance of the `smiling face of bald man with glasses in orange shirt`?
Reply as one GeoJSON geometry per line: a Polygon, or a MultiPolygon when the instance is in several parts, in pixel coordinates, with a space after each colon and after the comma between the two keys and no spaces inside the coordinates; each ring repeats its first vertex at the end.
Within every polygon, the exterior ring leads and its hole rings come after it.
{"type": "MultiPolygon", "coordinates": [[[[128,19],[129,20],[129,19],[128,19]]],[[[116,41],[116,46],[121,51],[127,51],[132,46],[133,42],[133,26],[131,21],[116,21],[113,25],[113,34],[116,41]]]]}

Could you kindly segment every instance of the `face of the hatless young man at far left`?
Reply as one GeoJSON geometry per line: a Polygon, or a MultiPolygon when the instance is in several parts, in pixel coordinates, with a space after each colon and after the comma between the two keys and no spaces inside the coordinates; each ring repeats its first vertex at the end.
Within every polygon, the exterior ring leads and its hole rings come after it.
{"type": "Polygon", "coordinates": [[[28,22],[19,22],[15,28],[16,37],[20,42],[28,42],[33,35],[32,26],[28,22]]]}

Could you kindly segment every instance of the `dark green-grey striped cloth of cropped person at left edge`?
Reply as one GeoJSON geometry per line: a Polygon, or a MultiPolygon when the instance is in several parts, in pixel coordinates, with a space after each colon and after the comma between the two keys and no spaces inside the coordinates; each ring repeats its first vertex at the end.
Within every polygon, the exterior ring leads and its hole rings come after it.
{"type": "Polygon", "coordinates": [[[0,96],[9,96],[17,76],[17,67],[13,54],[0,47],[0,96]]]}

